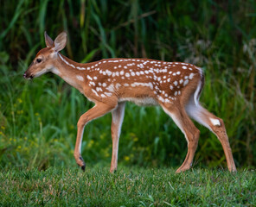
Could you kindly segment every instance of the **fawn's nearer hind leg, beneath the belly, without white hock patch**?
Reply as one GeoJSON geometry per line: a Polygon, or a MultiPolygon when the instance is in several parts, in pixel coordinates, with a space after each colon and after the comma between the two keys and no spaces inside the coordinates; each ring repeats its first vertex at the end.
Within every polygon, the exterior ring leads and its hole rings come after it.
{"type": "Polygon", "coordinates": [[[182,107],[162,107],[165,113],[167,113],[173,119],[173,121],[176,122],[176,125],[182,130],[182,133],[185,135],[186,140],[188,141],[188,153],[182,163],[182,166],[176,170],[176,173],[189,170],[194,159],[200,131],[195,128],[194,123],[190,120],[186,111],[182,107]]]}

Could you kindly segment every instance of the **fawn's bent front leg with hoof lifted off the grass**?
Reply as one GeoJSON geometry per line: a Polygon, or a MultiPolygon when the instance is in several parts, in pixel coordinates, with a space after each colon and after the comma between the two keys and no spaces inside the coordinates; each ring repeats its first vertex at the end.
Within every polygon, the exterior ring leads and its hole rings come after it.
{"type": "Polygon", "coordinates": [[[83,132],[84,132],[86,123],[100,116],[104,116],[107,112],[113,110],[115,107],[116,107],[116,104],[110,105],[106,103],[96,103],[92,109],[87,110],[85,114],[80,116],[80,119],[77,122],[77,137],[76,137],[76,142],[74,147],[74,159],[76,160],[76,163],[81,167],[83,171],[86,168],[86,164],[80,153],[81,153],[81,142],[82,142],[83,132]]]}

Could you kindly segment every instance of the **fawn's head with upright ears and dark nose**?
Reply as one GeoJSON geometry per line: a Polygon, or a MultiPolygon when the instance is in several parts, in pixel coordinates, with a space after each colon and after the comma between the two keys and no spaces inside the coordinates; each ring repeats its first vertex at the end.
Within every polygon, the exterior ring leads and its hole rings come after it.
{"type": "Polygon", "coordinates": [[[54,68],[54,59],[57,53],[61,51],[67,44],[67,34],[62,32],[53,41],[46,32],[44,32],[46,46],[40,50],[35,59],[30,64],[28,70],[24,72],[24,78],[39,77],[46,72],[50,72],[54,68]]]}

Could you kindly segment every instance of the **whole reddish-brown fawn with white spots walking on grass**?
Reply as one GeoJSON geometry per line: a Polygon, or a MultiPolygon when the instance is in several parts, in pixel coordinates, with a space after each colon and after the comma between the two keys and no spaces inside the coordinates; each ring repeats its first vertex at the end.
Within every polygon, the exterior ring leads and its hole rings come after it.
{"type": "Polygon", "coordinates": [[[80,116],[74,158],[84,170],[81,141],[87,122],[112,112],[112,162],[110,171],[118,166],[118,141],[125,113],[125,102],[138,105],[160,105],[188,141],[188,154],[177,173],[188,170],[194,158],[200,131],[195,121],[210,129],[221,141],[229,171],[236,171],[224,122],[204,109],[199,97],[204,84],[201,68],[181,62],[149,59],[105,59],[80,64],[69,60],[60,51],[66,46],[67,34],[62,32],[52,39],[45,35],[47,47],[36,54],[35,60],[24,73],[24,78],[35,78],[53,72],[74,86],[94,107],[80,116]]]}

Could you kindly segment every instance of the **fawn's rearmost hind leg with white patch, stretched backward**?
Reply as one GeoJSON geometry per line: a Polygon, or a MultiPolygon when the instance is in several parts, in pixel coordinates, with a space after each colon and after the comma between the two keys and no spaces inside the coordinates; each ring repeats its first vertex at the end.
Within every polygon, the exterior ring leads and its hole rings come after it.
{"type": "Polygon", "coordinates": [[[186,111],[191,118],[210,129],[218,137],[219,141],[221,141],[221,145],[227,159],[228,170],[230,172],[236,172],[234,158],[232,155],[231,147],[229,145],[226,128],[222,119],[214,116],[208,110],[204,109],[200,104],[196,105],[195,102],[191,100],[186,107],[186,111]]]}

